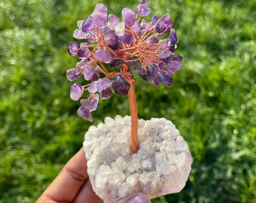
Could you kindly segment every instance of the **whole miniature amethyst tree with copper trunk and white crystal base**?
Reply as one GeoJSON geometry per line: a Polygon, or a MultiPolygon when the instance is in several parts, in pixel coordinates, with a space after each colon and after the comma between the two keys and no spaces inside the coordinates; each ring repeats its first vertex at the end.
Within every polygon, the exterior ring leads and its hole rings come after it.
{"type": "Polygon", "coordinates": [[[69,44],[69,54],[81,60],[66,77],[85,80],[70,91],[72,100],[80,100],[79,117],[93,121],[99,98],[108,99],[112,92],[128,95],[130,102],[131,117],[107,117],[85,135],[87,171],[93,190],[105,202],[136,192],[148,198],[179,192],[191,169],[187,143],[171,121],[138,120],[133,70],[154,86],[172,86],[172,74],[182,67],[169,14],[147,22],[143,17],[150,13],[142,0],[135,12],[123,8],[121,21],[98,4],[93,14],[78,21],[73,36],[82,42],[69,44]],[[84,92],[87,98],[82,98],[84,92]]]}

